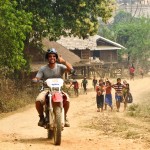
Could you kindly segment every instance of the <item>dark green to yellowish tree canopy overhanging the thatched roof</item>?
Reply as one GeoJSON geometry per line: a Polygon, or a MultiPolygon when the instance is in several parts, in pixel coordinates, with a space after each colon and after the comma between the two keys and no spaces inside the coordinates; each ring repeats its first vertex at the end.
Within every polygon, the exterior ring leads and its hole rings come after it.
{"type": "Polygon", "coordinates": [[[98,17],[106,22],[114,9],[113,0],[17,0],[18,9],[33,14],[33,43],[43,36],[57,40],[61,35],[86,38],[97,33],[98,17]]]}

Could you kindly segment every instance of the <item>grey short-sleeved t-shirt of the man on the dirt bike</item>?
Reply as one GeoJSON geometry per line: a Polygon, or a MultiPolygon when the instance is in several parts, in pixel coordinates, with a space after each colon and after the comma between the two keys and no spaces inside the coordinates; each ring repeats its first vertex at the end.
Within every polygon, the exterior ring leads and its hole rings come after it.
{"type": "Polygon", "coordinates": [[[47,64],[40,68],[36,77],[44,80],[48,78],[62,78],[65,70],[66,70],[66,66],[63,64],[56,63],[53,69],[51,69],[47,64]]]}

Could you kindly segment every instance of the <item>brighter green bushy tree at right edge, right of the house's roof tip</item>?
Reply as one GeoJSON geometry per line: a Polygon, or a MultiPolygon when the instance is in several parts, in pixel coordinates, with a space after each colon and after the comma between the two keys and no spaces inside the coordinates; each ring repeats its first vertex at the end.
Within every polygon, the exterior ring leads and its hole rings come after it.
{"type": "Polygon", "coordinates": [[[115,26],[116,41],[127,48],[131,63],[145,66],[150,58],[150,19],[135,18],[132,22],[115,26]]]}

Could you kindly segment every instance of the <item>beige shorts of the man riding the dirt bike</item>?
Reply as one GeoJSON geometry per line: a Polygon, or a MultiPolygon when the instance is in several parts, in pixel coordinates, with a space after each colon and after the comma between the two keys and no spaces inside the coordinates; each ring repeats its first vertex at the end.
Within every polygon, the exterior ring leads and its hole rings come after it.
{"type": "MultiPolygon", "coordinates": [[[[48,93],[48,90],[45,90],[45,91],[42,91],[41,93],[39,93],[39,95],[36,98],[36,101],[40,101],[42,104],[45,104],[45,97],[46,97],[47,93],[48,93]]],[[[62,92],[62,94],[63,94],[63,101],[64,102],[69,101],[68,94],[65,92],[62,92]]]]}

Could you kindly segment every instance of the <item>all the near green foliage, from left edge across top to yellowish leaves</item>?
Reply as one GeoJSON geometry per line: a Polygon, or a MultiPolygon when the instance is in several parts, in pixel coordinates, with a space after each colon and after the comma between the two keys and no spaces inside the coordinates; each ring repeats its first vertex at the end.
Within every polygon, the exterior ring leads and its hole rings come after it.
{"type": "Polygon", "coordinates": [[[107,22],[113,9],[113,0],[0,1],[0,68],[26,69],[24,47],[41,46],[42,37],[96,34],[98,18],[107,22]]]}

